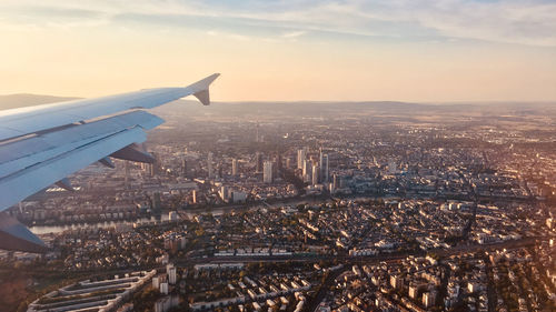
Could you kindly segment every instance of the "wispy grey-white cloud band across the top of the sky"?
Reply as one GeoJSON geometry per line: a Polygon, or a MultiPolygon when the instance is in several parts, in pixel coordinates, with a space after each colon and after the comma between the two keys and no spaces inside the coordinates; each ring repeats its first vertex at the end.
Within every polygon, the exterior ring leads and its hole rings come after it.
{"type": "MultiPolygon", "coordinates": [[[[202,29],[203,23],[209,23],[210,28],[220,28],[219,31],[231,28],[241,38],[266,29],[276,38],[321,31],[406,40],[436,37],[556,47],[556,3],[546,0],[136,0],[132,6],[123,0],[4,0],[0,10],[4,23],[7,20],[48,23],[50,14],[58,24],[75,27],[79,22],[76,17],[88,23],[117,23],[121,16],[146,16],[152,19],[145,22],[156,20],[175,27],[182,23],[202,29]],[[26,14],[30,18],[18,18],[26,14]]],[[[269,38],[269,33],[259,37],[269,38]]]]}

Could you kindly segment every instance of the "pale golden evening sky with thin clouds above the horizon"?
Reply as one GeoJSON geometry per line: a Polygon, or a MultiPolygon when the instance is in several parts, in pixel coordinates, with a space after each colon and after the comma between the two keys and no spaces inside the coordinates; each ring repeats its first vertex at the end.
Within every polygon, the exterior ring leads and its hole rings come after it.
{"type": "Polygon", "coordinates": [[[556,0],[0,0],[0,94],[556,101],[556,0]]]}

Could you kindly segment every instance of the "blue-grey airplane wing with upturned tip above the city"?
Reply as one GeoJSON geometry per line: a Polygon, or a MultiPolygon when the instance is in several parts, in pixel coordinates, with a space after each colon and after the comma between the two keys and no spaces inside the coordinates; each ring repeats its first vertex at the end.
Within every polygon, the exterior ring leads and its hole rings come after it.
{"type": "MultiPolygon", "coordinates": [[[[146,130],[163,120],[143,109],[188,95],[208,105],[209,85],[218,76],[181,88],[0,111],[0,211],[53,183],[71,189],[66,177],[97,161],[108,167],[112,167],[110,158],[152,162],[153,158],[138,143],[147,139],[146,130]]],[[[27,228],[6,213],[0,219],[9,220],[0,220],[0,238],[26,241],[16,245],[32,243],[43,248],[27,228]]],[[[13,241],[0,240],[0,249],[17,249],[13,245],[13,241]]],[[[19,250],[31,251],[28,246],[19,250]]]]}

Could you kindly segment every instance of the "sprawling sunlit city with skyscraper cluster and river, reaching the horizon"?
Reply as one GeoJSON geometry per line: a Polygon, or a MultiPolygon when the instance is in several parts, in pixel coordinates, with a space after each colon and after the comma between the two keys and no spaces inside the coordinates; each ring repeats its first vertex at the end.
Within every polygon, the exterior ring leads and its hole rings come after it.
{"type": "Polygon", "coordinates": [[[7,211],[6,311],[555,311],[554,107],[195,104],[7,211]]]}

